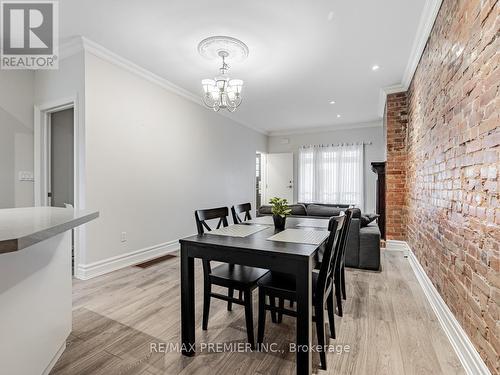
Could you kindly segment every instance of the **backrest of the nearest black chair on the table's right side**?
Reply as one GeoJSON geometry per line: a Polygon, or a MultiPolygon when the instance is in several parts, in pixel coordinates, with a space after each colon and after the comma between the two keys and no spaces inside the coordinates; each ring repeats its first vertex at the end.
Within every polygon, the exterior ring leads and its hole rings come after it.
{"type": "Polygon", "coordinates": [[[341,213],[339,216],[330,218],[328,223],[328,230],[330,235],[326,242],[325,251],[323,253],[323,260],[319,269],[318,283],[316,285],[316,298],[325,298],[326,293],[332,286],[333,273],[335,271],[335,259],[341,250],[340,237],[342,229],[344,228],[346,215],[341,213]]]}

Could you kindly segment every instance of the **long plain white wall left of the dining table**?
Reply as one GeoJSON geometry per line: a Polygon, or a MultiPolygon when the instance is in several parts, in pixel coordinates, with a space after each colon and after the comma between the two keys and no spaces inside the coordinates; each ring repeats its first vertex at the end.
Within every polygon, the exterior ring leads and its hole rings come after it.
{"type": "Polygon", "coordinates": [[[266,136],[85,55],[86,263],[195,233],[194,210],[255,201],[266,136]],[[127,241],[121,242],[121,233],[127,241]]]}

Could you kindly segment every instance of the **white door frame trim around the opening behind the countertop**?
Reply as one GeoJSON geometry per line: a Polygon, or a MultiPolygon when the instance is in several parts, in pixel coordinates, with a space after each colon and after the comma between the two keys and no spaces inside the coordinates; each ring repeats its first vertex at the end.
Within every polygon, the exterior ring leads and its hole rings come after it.
{"type": "MultiPolygon", "coordinates": [[[[35,206],[48,206],[50,184],[50,115],[54,112],[73,108],[73,203],[75,210],[85,208],[85,127],[80,120],[78,95],[57,99],[34,106],[34,197],[35,206]]],[[[74,229],[75,276],[78,277],[78,265],[85,259],[85,228],[74,229]]]]}

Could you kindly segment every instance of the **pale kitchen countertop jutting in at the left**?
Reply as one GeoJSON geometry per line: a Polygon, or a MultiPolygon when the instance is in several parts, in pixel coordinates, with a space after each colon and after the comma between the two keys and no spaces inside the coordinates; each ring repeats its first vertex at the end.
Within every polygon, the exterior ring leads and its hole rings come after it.
{"type": "Polygon", "coordinates": [[[0,209],[0,254],[24,249],[97,217],[97,211],[73,208],[0,209]]]}

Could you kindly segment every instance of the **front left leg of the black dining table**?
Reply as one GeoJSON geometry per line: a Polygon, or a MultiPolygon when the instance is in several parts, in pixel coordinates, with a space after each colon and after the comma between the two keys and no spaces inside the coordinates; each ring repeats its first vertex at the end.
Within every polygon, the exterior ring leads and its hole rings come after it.
{"type": "Polygon", "coordinates": [[[194,329],[194,258],[188,257],[181,245],[181,335],[182,354],[186,356],[195,353],[194,329]]]}

